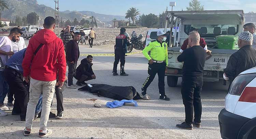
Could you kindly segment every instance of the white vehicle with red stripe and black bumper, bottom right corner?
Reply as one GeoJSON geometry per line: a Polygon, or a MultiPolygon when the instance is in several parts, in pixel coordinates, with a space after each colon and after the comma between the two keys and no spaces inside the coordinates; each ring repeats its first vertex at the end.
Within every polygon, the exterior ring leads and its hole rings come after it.
{"type": "Polygon", "coordinates": [[[223,139],[255,139],[256,137],[256,67],[248,69],[232,82],[219,113],[223,139]]]}

